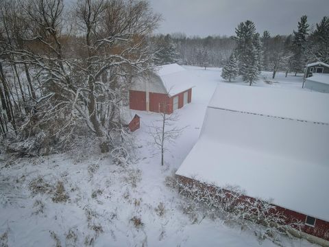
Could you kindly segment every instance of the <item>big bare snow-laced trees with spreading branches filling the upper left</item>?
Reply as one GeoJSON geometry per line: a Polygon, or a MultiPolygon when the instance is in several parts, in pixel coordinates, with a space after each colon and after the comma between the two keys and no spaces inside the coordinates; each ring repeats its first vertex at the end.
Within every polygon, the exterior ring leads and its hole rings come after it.
{"type": "MultiPolygon", "coordinates": [[[[32,109],[26,108],[18,127],[29,129],[27,136],[46,129],[64,143],[76,128],[86,126],[99,139],[102,152],[113,149],[120,133],[119,107],[130,80],[151,67],[147,36],[160,16],[142,0],[78,0],[71,9],[62,0],[19,5],[21,13],[12,11],[10,19],[1,20],[8,30],[21,27],[15,21],[25,23],[24,30],[8,32],[1,42],[3,62],[25,71],[27,79],[17,97],[10,96],[12,91],[1,80],[8,121],[14,126],[9,106],[28,91],[32,109]]],[[[16,74],[20,78],[19,71],[16,74]]]]}

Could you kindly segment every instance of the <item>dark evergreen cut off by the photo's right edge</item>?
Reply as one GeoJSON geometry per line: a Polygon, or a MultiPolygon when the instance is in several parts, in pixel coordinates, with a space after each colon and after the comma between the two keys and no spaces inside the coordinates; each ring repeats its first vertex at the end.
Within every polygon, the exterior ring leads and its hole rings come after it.
{"type": "Polygon", "coordinates": [[[312,62],[320,61],[329,63],[329,17],[324,16],[310,36],[308,54],[312,62]]]}

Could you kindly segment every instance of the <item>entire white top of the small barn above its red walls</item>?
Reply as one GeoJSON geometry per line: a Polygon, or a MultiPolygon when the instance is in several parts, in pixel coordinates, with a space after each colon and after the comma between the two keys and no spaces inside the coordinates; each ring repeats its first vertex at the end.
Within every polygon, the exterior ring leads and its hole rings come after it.
{"type": "Polygon", "coordinates": [[[192,75],[178,64],[167,64],[156,68],[155,73],[144,73],[136,78],[132,90],[177,95],[194,85],[192,75]]]}

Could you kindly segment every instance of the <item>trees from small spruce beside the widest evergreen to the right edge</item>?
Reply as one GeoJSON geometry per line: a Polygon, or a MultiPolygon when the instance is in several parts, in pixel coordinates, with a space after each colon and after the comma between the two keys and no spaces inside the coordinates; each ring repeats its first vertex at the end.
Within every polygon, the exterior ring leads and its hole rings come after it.
{"type": "Polygon", "coordinates": [[[302,16],[297,30],[289,36],[271,38],[268,31],[260,36],[252,21],[245,21],[236,27],[236,48],[223,67],[221,76],[226,80],[241,75],[244,82],[252,85],[261,70],[303,73],[307,63],[329,62],[329,17],[324,16],[310,30],[307,16],[302,16]]]}

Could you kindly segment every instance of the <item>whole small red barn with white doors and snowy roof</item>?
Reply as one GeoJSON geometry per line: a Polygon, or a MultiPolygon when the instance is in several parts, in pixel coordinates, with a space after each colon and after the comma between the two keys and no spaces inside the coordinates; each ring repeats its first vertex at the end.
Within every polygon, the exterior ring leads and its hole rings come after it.
{"type": "Polygon", "coordinates": [[[158,67],[156,72],[145,73],[134,80],[130,91],[130,109],[149,110],[171,114],[191,103],[191,75],[178,64],[158,67]],[[164,107],[165,106],[165,107],[164,107]]]}

